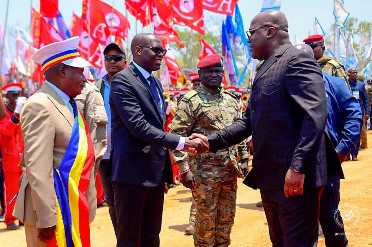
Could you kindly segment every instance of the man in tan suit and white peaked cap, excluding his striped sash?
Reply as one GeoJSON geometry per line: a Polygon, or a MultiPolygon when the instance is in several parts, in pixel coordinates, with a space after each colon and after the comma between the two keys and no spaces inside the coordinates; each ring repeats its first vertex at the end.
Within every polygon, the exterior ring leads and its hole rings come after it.
{"type": "MultiPolygon", "coordinates": [[[[23,177],[13,212],[25,223],[29,247],[47,246],[46,241],[52,240],[58,224],[55,170],[61,168],[60,165],[64,162],[62,158],[65,157],[67,146],[70,147],[74,123],[79,119],[73,98],[81,93],[86,83],[83,68],[92,67],[78,54],[78,43],[79,38],[73,37],[44,46],[32,56],[35,62],[42,64],[46,81],[28,99],[20,115],[27,176],[23,177]]],[[[86,138],[87,145],[93,146],[91,139],[88,136],[86,138]]],[[[94,151],[92,156],[94,157],[94,151]]],[[[81,191],[86,193],[83,200],[89,204],[89,212],[85,212],[89,213],[89,223],[96,213],[93,162],[94,159],[89,164],[91,171],[89,170],[87,190],[81,191]]],[[[71,208],[71,212],[73,210],[71,208]]],[[[76,246],[76,240],[73,241],[76,246]]]]}

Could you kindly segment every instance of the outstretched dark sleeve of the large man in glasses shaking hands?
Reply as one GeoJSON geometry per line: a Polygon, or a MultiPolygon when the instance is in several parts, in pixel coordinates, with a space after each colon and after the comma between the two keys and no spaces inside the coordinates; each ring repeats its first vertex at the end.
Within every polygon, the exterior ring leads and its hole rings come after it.
{"type": "Polygon", "coordinates": [[[243,118],[233,122],[230,126],[221,129],[218,133],[208,135],[209,151],[214,152],[220,149],[228,148],[248,138],[252,135],[251,115],[249,105],[243,118]]]}

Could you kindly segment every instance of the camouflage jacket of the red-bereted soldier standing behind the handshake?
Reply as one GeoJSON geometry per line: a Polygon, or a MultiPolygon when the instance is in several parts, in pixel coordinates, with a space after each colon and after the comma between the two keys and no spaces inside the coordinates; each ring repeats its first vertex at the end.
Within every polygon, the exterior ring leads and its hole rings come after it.
{"type": "MultiPolygon", "coordinates": [[[[170,132],[181,136],[193,133],[210,135],[229,126],[238,119],[238,102],[226,90],[209,89],[204,85],[187,93],[178,103],[170,132]]],[[[188,154],[184,150],[172,151],[180,171],[190,169],[196,182],[218,182],[225,176],[228,163],[234,165],[239,177],[243,177],[238,162],[249,158],[245,142],[230,148],[202,155],[188,154]]]]}

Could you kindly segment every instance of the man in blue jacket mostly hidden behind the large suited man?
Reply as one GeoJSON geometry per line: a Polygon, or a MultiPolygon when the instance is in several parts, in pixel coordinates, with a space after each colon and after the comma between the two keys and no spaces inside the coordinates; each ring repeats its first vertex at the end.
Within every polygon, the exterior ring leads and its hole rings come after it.
{"type": "MultiPolygon", "coordinates": [[[[294,46],[299,50],[314,55],[310,46],[301,44],[294,46]]],[[[339,176],[335,176],[330,168],[336,167],[336,162],[343,162],[349,152],[355,148],[356,141],[360,140],[360,127],[363,124],[362,111],[357,99],[350,93],[345,82],[337,77],[323,73],[325,96],[327,99],[327,123],[325,132],[333,145],[339,161],[332,160],[332,151],[327,150],[328,176],[330,180],[323,190],[320,198],[319,222],[323,229],[325,246],[346,247],[348,244],[345,230],[340,227],[343,224],[340,212],[335,215],[340,203],[340,177],[343,178],[342,170],[339,176]]],[[[353,88],[353,87],[352,87],[353,88]]],[[[364,86],[363,86],[364,88],[364,86]]]]}

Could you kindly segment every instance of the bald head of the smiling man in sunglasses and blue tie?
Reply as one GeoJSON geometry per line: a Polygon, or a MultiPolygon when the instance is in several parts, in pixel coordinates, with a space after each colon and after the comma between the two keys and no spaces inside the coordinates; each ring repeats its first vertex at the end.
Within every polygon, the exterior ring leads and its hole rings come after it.
{"type": "Polygon", "coordinates": [[[148,73],[159,70],[163,53],[156,54],[155,48],[163,49],[163,44],[158,36],[152,33],[139,33],[133,37],[131,51],[133,61],[148,73]],[[151,47],[151,48],[150,48],[151,47]]]}

